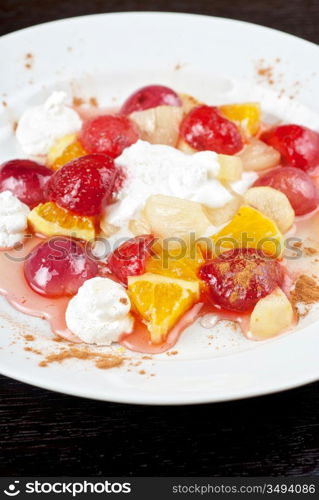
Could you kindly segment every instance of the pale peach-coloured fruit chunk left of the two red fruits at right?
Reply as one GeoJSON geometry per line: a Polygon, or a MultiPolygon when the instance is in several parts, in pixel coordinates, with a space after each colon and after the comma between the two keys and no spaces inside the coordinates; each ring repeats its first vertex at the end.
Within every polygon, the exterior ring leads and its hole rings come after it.
{"type": "Polygon", "coordinates": [[[280,153],[264,142],[252,137],[244,149],[239,153],[244,170],[258,172],[274,168],[280,163],[280,153]]]}

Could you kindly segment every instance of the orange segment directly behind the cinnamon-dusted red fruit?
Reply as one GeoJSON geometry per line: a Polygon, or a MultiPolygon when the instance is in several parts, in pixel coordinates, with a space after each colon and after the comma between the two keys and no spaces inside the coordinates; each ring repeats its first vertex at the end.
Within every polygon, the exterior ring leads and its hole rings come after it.
{"type": "Polygon", "coordinates": [[[278,258],[284,248],[276,223],[249,206],[242,206],[230,223],[211,238],[217,255],[233,248],[257,248],[278,258]]]}

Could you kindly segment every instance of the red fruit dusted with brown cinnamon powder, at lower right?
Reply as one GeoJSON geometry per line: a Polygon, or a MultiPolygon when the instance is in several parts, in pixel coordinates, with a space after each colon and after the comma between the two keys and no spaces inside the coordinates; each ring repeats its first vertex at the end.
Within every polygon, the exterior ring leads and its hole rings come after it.
{"type": "Polygon", "coordinates": [[[209,297],[228,311],[251,311],[284,278],[280,264],[254,248],[237,248],[204,264],[199,276],[209,297]]]}

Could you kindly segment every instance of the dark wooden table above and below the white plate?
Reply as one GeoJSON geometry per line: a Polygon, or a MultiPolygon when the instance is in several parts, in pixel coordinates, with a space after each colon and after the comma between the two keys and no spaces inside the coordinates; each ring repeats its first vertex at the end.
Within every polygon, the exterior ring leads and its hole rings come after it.
{"type": "MultiPolygon", "coordinates": [[[[243,19],[319,43],[318,0],[0,0],[0,35],[126,10],[243,19]]],[[[166,408],[61,396],[0,377],[0,475],[318,475],[318,389],[166,408]]]]}

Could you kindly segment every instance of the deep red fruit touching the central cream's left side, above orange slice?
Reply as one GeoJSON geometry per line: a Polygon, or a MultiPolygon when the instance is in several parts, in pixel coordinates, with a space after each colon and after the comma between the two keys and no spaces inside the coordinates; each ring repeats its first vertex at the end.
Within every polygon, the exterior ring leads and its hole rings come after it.
{"type": "Polygon", "coordinates": [[[116,175],[112,158],[82,156],[52,175],[49,199],[79,215],[99,215],[112,195],[116,175]]]}

